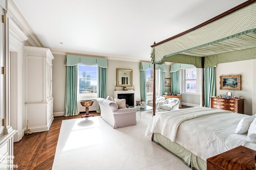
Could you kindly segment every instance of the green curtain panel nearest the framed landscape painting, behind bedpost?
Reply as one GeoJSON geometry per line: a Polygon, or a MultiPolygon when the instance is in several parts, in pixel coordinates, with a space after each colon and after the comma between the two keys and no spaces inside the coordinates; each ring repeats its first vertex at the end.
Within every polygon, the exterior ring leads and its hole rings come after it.
{"type": "Polygon", "coordinates": [[[215,96],[216,77],[215,67],[204,68],[204,107],[210,107],[210,97],[215,96]]]}

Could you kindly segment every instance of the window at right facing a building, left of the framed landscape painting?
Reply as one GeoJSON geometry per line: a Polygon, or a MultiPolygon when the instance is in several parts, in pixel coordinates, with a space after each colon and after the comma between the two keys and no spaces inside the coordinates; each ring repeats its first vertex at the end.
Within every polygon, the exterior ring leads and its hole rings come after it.
{"type": "Polygon", "coordinates": [[[196,67],[185,70],[185,92],[196,93],[196,67]]]}

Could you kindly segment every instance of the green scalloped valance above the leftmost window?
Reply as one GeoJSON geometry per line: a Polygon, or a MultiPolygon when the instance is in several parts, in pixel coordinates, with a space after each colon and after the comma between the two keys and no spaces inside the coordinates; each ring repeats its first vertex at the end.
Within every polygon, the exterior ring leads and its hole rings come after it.
{"type": "Polygon", "coordinates": [[[97,64],[102,68],[108,68],[108,61],[105,58],[85,57],[85,56],[78,56],[78,55],[66,56],[65,66],[75,66],[78,64],[84,64],[84,65],[97,64]]]}

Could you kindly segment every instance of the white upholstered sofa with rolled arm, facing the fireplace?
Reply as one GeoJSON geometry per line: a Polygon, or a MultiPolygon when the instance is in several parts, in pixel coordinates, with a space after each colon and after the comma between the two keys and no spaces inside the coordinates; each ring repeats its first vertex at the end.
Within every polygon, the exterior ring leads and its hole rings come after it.
{"type": "Polygon", "coordinates": [[[115,102],[104,98],[97,99],[100,105],[100,116],[114,129],[136,125],[136,108],[118,109],[115,102]]]}

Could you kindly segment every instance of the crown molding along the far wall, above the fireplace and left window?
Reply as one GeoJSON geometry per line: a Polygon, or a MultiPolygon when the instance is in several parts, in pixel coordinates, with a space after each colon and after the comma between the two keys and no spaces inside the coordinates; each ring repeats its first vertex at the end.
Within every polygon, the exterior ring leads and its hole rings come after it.
{"type": "MultiPolygon", "coordinates": [[[[50,49],[52,54],[57,55],[86,55],[88,57],[104,57],[108,60],[118,60],[118,61],[129,61],[129,62],[141,62],[142,60],[133,58],[133,57],[120,57],[115,55],[99,55],[95,53],[86,53],[81,51],[71,51],[71,50],[63,50],[63,49],[50,49]]],[[[145,60],[143,60],[145,61],[145,60]]],[[[150,59],[148,60],[150,62],[150,59]]]]}

